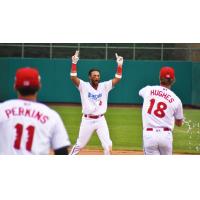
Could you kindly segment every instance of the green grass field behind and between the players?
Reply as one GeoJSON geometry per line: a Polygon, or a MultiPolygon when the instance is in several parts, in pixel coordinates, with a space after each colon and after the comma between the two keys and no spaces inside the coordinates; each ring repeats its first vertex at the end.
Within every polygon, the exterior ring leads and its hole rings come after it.
{"type": "MultiPolygon", "coordinates": [[[[51,106],[62,117],[72,144],[78,137],[81,122],[80,106],[51,106]]],[[[174,129],[174,153],[200,154],[200,110],[184,109],[186,121],[174,129]]],[[[113,141],[113,149],[142,150],[142,117],[138,107],[109,107],[106,119],[113,141]]],[[[101,149],[94,133],[87,148],[101,149]]]]}

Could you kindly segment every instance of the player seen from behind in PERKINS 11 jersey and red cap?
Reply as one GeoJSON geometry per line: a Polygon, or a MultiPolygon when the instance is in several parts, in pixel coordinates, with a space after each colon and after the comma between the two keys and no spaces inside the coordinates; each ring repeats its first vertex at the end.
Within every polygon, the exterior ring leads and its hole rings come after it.
{"type": "Polygon", "coordinates": [[[20,68],[14,87],[18,99],[0,104],[0,154],[68,154],[69,137],[60,116],[37,103],[41,87],[35,68],[20,68]]]}

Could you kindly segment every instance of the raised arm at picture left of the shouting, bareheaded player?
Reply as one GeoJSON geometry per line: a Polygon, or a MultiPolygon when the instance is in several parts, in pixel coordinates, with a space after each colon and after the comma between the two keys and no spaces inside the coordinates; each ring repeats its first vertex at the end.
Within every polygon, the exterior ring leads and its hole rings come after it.
{"type": "Polygon", "coordinates": [[[80,84],[80,79],[77,77],[77,62],[79,60],[79,51],[76,51],[76,53],[72,56],[72,68],[71,68],[71,80],[72,82],[78,87],[80,84]]]}

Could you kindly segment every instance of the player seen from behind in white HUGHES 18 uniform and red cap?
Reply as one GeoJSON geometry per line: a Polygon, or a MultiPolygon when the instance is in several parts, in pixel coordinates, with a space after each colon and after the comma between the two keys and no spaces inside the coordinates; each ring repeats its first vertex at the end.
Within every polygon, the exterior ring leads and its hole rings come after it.
{"type": "Polygon", "coordinates": [[[174,123],[181,126],[181,100],[172,92],[175,82],[172,67],[160,70],[160,86],[146,86],[139,91],[143,97],[143,148],[146,155],[171,155],[174,123]]]}

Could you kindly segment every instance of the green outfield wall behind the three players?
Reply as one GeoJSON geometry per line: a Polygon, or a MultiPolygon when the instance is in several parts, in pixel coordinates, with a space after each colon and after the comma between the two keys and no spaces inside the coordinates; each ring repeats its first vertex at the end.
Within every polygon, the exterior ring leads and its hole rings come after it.
{"type": "MultiPolygon", "coordinates": [[[[124,61],[123,78],[110,92],[109,103],[140,104],[140,88],[159,84],[159,70],[162,66],[173,66],[176,71],[176,83],[172,90],[180,97],[183,104],[200,103],[200,63],[184,61],[124,61]]],[[[71,61],[69,59],[19,59],[0,58],[0,101],[16,98],[13,90],[16,69],[32,66],[39,69],[42,89],[39,101],[79,103],[80,95],[70,80],[71,61]]],[[[112,79],[116,72],[114,60],[80,60],[79,78],[87,81],[88,70],[98,67],[101,80],[112,79]]]]}

